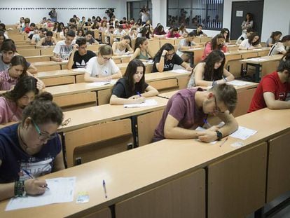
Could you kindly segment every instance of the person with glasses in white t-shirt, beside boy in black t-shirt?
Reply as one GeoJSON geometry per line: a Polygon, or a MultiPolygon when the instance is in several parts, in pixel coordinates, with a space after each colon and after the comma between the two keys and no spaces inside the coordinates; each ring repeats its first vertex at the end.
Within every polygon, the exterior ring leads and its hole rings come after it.
{"type": "Polygon", "coordinates": [[[112,60],[111,46],[99,46],[97,57],[92,57],[87,64],[85,72],[86,82],[111,81],[122,77],[120,69],[112,60]]]}

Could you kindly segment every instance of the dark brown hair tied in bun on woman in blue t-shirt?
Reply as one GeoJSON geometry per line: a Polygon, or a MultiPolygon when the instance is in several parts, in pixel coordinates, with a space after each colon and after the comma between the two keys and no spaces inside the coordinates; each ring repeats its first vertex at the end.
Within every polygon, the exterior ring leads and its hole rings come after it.
{"type": "Polygon", "coordinates": [[[62,124],[62,109],[53,102],[53,95],[44,92],[37,95],[33,102],[30,102],[23,110],[22,123],[26,118],[32,118],[36,124],[57,123],[62,124]]]}

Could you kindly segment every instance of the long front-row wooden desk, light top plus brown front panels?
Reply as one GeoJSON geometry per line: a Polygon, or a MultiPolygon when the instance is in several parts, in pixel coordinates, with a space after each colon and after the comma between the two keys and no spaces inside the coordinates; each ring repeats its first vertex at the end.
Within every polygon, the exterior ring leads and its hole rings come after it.
{"type": "Polygon", "coordinates": [[[175,217],[205,217],[206,210],[210,218],[243,217],[265,204],[265,142],[289,132],[287,114],[289,109],[261,109],[238,117],[240,125],[258,131],[242,141],[243,147],[230,146],[240,141],[232,137],[222,147],[219,142],[213,145],[192,139],[165,139],[46,175],[76,176],[74,201],[4,212],[8,203],[4,200],[0,203],[1,217],[83,217],[108,205],[116,205],[116,217],[131,217],[132,212],[136,212],[134,217],[160,217],[167,210],[175,217]],[[106,180],[108,198],[104,198],[102,179],[106,180]],[[90,201],[76,204],[78,191],[88,191],[90,201]]]}

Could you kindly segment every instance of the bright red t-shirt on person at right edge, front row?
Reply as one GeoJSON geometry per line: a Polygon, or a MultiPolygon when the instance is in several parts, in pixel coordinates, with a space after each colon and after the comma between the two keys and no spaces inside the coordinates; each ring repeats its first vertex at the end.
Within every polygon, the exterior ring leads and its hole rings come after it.
{"type": "Polygon", "coordinates": [[[275,95],[275,100],[284,101],[286,100],[286,96],[289,91],[290,83],[282,83],[279,79],[277,71],[264,76],[260,84],[258,84],[256,92],[254,93],[248,113],[267,107],[263,93],[273,93],[275,95]]]}

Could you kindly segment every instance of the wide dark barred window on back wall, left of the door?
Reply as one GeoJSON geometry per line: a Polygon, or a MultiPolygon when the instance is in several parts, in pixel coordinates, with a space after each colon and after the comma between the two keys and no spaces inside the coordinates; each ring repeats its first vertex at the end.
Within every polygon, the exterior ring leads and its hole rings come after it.
{"type": "Polygon", "coordinates": [[[167,0],[167,26],[195,29],[221,29],[223,26],[223,0],[167,0]]]}

